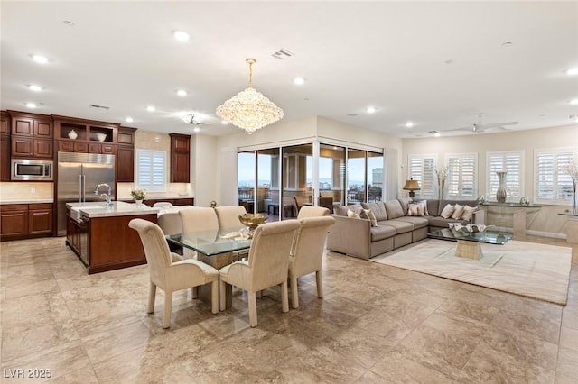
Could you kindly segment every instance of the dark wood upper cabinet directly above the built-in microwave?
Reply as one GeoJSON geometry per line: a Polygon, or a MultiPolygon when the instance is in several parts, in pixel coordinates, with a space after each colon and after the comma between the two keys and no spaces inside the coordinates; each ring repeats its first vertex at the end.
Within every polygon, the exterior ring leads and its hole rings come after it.
{"type": "Polygon", "coordinates": [[[8,114],[12,157],[51,160],[54,156],[51,116],[14,111],[8,111],[8,114]]]}

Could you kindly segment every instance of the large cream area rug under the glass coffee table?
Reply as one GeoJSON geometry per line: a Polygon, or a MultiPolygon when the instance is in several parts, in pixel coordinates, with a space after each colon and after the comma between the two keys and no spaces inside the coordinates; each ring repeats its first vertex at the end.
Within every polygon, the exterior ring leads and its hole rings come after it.
{"type": "Polygon", "coordinates": [[[505,245],[481,244],[484,257],[477,261],[454,256],[456,245],[428,239],[369,260],[566,304],[572,248],[510,240],[505,245]]]}

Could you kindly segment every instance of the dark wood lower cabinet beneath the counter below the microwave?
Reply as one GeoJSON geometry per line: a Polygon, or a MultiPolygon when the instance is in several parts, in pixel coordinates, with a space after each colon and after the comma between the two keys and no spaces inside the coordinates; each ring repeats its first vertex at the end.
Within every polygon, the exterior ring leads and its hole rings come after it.
{"type": "Polygon", "coordinates": [[[52,204],[7,204],[0,206],[2,241],[52,235],[52,204]]]}

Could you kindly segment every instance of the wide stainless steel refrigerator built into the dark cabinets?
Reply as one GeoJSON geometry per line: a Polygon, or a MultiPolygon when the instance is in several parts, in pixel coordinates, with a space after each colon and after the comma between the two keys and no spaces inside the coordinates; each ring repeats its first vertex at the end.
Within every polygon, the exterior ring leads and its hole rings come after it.
{"type": "Polygon", "coordinates": [[[58,184],[56,200],[58,203],[58,235],[66,235],[66,203],[102,201],[101,189],[94,194],[98,184],[106,183],[111,187],[111,196],[115,191],[115,155],[94,153],[58,152],[58,184]]]}

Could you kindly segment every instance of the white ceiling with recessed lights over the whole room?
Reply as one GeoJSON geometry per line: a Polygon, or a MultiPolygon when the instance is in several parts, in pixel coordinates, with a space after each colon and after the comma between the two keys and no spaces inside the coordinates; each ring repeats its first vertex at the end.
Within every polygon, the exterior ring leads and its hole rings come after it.
{"type": "Polygon", "coordinates": [[[571,124],[578,113],[569,104],[578,75],[565,74],[578,67],[576,1],[0,6],[3,110],[36,102],[40,114],[165,133],[192,133],[177,116],[192,110],[208,115],[201,133],[237,133],[214,113],[247,86],[245,59],[253,57],[254,87],[287,120],[321,115],[415,137],[476,123],[479,113],[484,123],[519,122],[513,130],[571,124]],[[174,30],[191,40],[174,40],[174,30]],[[274,59],[282,48],[294,56],[274,59]],[[50,62],[33,62],[36,53],[50,62]],[[295,77],[305,84],[295,86],[295,77]],[[180,88],[189,95],[176,96],[180,88]]]}

